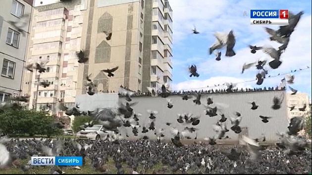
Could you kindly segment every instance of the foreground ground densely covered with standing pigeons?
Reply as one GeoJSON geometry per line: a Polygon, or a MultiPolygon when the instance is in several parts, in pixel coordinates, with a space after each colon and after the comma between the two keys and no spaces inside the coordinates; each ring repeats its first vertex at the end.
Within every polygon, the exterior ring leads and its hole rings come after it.
{"type": "Polygon", "coordinates": [[[11,161],[0,174],[308,174],[312,160],[309,149],[289,154],[275,145],[261,146],[255,161],[242,145],[204,142],[176,147],[144,139],[115,144],[64,138],[10,139],[4,145],[11,161]],[[30,166],[30,157],[36,155],[83,156],[85,162],[81,167],[30,166]]]}

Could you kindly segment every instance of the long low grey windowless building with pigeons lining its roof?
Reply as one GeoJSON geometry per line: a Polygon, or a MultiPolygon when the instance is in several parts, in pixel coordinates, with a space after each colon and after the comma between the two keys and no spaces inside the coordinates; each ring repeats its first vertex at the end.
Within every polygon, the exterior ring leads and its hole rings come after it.
{"type": "MultiPolygon", "coordinates": [[[[211,107],[217,105],[217,103],[222,103],[223,112],[225,117],[227,118],[226,126],[230,130],[226,133],[229,136],[228,139],[218,140],[219,143],[238,143],[239,138],[242,135],[249,136],[251,138],[261,138],[261,135],[264,134],[266,136],[267,143],[274,143],[278,141],[277,132],[287,131],[287,127],[289,124],[289,120],[287,117],[288,109],[286,100],[283,101],[282,107],[279,110],[271,109],[273,103],[268,103],[271,101],[273,96],[281,96],[286,95],[285,90],[262,90],[262,91],[243,91],[243,92],[235,92],[235,93],[208,93],[202,94],[202,104],[206,104],[207,97],[211,97],[214,101],[211,104],[211,107]],[[241,101],[241,103],[237,103],[237,101],[241,101]],[[250,102],[255,101],[259,108],[257,110],[251,110],[250,102]],[[228,106],[228,107],[226,107],[228,106]],[[236,134],[231,131],[231,121],[230,117],[235,117],[235,112],[239,112],[241,114],[242,121],[240,126],[242,128],[242,132],[240,134],[236,134]],[[261,122],[261,118],[259,116],[270,116],[268,123],[261,122]]],[[[216,124],[217,121],[220,120],[220,116],[209,117],[205,115],[205,108],[203,105],[195,105],[193,99],[182,100],[181,95],[170,95],[170,98],[173,102],[173,107],[171,109],[167,108],[167,101],[165,98],[161,97],[152,97],[152,96],[132,96],[132,102],[138,101],[139,103],[132,108],[135,113],[140,113],[140,126],[139,129],[139,138],[143,136],[142,127],[149,126],[150,119],[149,113],[147,110],[157,111],[156,120],[155,120],[155,128],[164,129],[164,139],[170,139],[172,137],[170,133],[171,127],[176,127],[179,130],[183,130],[185,127],[195,127],[198,131],[194,132],[191,137],[195,137],[197,135],[198,140],[203,140],[205,137],[213,137],[216,133],[212,130],[212,125],[216,124]],[[187,114],[192,113],[194,117],[200,117],[200,123],[197,126],[187,125],[185,123],[179,124],[177,122],[178,116],[177,114],[187,114]],[[166,123],[171,123],[170,126],[167,126],[166,123]]],[[[76,103],[80,104],[80,109],[83,111],[87,110],[95,110],[96,108],[104,108],[104,107],[114,107],[118,104],[119,100],[125,103],[123,97],[119,97],[117,94],[96,94],[94,96],[90,96],[87,94],[77,95],[76,103]],[[115,96],[113,96],[115,95],[115,96]]],[[[123,132],[123,130],[121,131],[123,132]]],[[[133,137],[131,128],[127,128],[127,133],[130,137],[133,137]]],[[[123,133],[125,135],[125,133],[123,133]]],[[[151,139],[156,139],[154,135],[154,131],[149,131],[146,133],[148,137],[151,139]]]]}

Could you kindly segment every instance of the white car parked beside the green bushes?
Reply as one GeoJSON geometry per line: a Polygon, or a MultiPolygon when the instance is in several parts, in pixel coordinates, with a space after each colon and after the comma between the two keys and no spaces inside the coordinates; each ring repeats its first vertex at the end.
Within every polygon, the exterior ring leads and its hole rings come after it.
{"type": "Polygon", "coordinates": [[[87,127],[76,133],[76,137],[79,139],[90,139],[90,140],[99,140],[105,138],[107,135],[104,132],[102,125],[94,125],[93,127],[87,127]]]}

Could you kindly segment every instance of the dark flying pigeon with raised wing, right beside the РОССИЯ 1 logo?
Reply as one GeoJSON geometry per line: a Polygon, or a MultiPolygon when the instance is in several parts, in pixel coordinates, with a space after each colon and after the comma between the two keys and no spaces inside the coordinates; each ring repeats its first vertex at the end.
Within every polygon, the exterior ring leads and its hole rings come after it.
{"type": "Polygon", "coordinates": [[[288,25],[280,26],[277,33],[282,37],[290,37],[290,35],[294,32],[295,27],[297,26],[301,16],[304,14],[303,11],[300,11],[298,14],[294,15],[289,13],[288,17],[288,25]]]}

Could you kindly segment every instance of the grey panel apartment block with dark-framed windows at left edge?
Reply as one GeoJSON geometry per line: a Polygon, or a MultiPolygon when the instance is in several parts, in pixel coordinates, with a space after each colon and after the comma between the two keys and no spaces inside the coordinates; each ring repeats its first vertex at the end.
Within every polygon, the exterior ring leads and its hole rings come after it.
{"type": "Polygon", "coordinates": [[[1,0],[0,5],[0,102],[20,95],[33,0],[1,0]],[[24,23],[21,30],[9,21],[24,23]]]}

